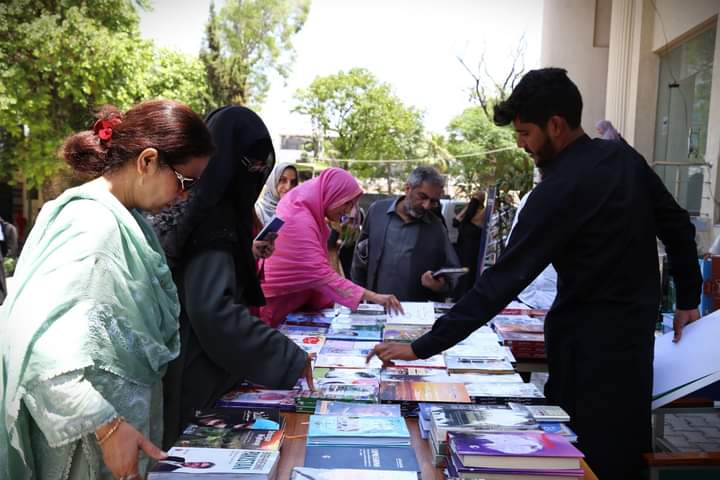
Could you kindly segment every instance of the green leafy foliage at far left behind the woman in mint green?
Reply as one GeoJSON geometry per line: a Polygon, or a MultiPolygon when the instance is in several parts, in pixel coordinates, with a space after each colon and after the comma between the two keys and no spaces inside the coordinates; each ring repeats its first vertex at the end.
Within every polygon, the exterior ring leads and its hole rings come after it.
{"type": "MultiPolygon", "coordinates": [[[[145,2],[136,2],[144,6],[145,2]]],[[[12,0],[0,5],[0,172],[30,188],[64,169],[56,152],[103,104],[166,96],[204,110],[197,60],[140,38],[128,0],[12,0]],[[23,125],[28,128],[23,135],[23,125]]]]}

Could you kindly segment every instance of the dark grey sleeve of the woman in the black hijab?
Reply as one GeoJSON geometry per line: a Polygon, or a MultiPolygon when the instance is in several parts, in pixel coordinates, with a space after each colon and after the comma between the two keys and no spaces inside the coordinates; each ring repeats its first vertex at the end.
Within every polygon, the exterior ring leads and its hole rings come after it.
{"type": "Polygon", "coordinates": [[[292,388],[307,354],[238,303],[240,288],[230,253],[206,250],[189,260],[183,295],[198,342],[231,375],[269,388],[292,388]]]}

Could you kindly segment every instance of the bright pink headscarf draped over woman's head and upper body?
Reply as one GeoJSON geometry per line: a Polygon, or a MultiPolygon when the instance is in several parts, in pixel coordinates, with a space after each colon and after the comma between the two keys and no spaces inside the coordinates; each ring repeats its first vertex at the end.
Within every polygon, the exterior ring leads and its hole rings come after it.
{"type": "Polygon", "coordinates": [[[285,224],[275,240],[275,253],[265,261],[265,296],[316,288],[340,277],[327,258],[330,229],[325,215],[361,195],[355,177],[341,168],[328,168],[280,200],[276,215],[285,224]]]}

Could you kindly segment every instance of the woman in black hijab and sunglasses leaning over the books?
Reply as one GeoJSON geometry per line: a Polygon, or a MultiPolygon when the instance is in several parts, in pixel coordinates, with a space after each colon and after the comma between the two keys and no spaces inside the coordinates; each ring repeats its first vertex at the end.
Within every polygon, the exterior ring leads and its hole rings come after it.
{"type": "Polygon", "coordinates": [[[253,205],[275,163],[270,135],[251,110],[227,106],[207,118],[216,146],[192,197],[153,218],[182,303],[180,356],[164,379],[170,447],[196,409],[241,380],[291,388],[310,377],[307,354],[248,311],[265,303],[255,270],[253,205]]]}

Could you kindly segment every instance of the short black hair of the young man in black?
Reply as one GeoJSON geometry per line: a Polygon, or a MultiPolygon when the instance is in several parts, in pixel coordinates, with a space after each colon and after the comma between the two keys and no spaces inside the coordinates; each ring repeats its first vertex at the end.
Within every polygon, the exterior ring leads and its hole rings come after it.
{"type": "Polygon", "coordinates": [[[553,115],[564,118],[570,128],[580,126],[582,97],[564,68],[530,70],[508,99],[495,106],[493,121],[504,126],[518,118],[544,128],[553,115]]]}

